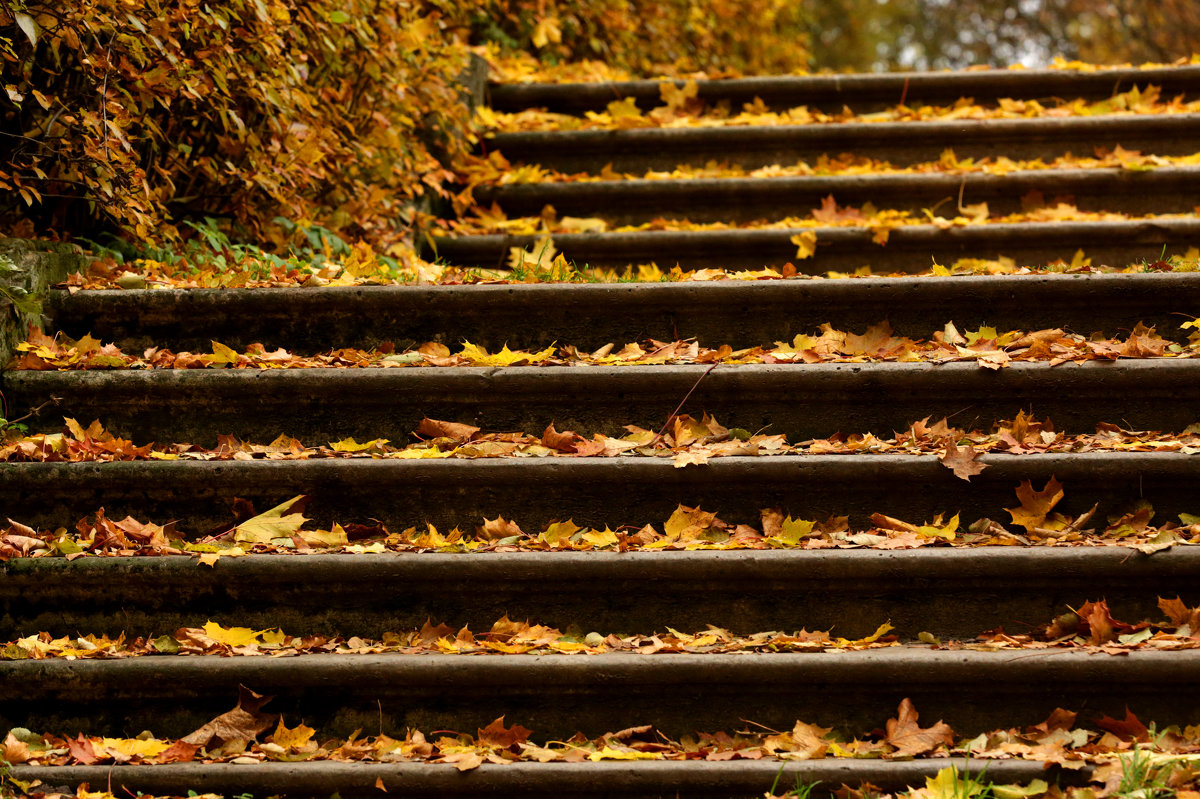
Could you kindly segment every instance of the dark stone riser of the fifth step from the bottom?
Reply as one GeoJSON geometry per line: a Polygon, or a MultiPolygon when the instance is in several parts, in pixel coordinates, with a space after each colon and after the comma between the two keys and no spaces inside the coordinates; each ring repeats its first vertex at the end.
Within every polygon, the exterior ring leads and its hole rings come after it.
{"type": "Polygon", "coordinates": [[[790,440],[835,432],[890,434],[931,416],[965,429],[988,428],[1018,411],[1049,416],[1057,429],[1094,432],[1098,422],[1182,431],[1195,421],[1200,361],[1111,364],[973,362],[624,367],[446,367],[151,372],[8,372],[10,408],[56,397],[43,422],[100,419],[119,435],[216,444],[233,434],[259,444],[288,434],[306,444],[382,437],[409,441],[424,416],[488,431],[624,434],[622,425],[659,429],[680,401],[728,427],[785,433],[790,440]],[[581,404],[580,400],[589,401],[581,404]],[[887,398],[886,403],[880,402],[887,398]]]}

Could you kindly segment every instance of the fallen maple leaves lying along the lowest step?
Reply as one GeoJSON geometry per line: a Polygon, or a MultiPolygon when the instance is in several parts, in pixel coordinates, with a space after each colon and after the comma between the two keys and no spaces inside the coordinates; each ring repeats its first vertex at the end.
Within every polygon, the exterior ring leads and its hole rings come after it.
{"type": "MultiPolygon", "coordinates": [[[[997,729],[970,740],[955,737],[938,721],[920,727],[912,702],[900,703],[886,727],[854,738],[827,727],[797,721],[788,731],[697,733],[672,739],[652,726],[632,727],[589,739],[577,733],[565,741],[535,744],[533,732],[520,725],[504,726],[497,719],[474,735],[409,729],[401,738],[377,737],[320,740],[317,731],[300,722],[287,727],[282,717],[268,714],[270,702],[241,689],[238,707],[178,740],[161,740],[150,733],[139,738],[85,735],[61,738],[28,729],[11,731],[4,758],[13,764],[92,765],[160,763],[264,763],[340,761],[358,763],[450,763],[460,770],[516,762],[580,763],[600,761],[782,761],[838,758],[904,759],[967,755],[972,758],[1027,758],[1069,769],[1116,763],[1120,756],[1146,749],[1171,755],[1200,752],[1200,727],[1170,727],[1153,738],[1133,714],[1097,719],[1092,728],[1076,727],[1076,714],[1056,709],[1039,725],[997,729]],[[272,731],[274,732],[269,732],[272,731]],[[263,740],[259,735],[268,733],[263,740]]],[[[1106,774],[1106,771],[1100,771],[1106,774]]]]}

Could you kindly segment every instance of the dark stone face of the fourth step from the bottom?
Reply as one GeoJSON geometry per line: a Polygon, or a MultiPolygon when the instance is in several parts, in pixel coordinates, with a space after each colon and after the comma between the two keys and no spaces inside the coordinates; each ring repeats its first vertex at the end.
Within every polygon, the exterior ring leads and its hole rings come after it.
{"type": "Polygon", "coordinates": [[[1058,510],[1069,515],[1099,503],[1102,521],[1138,499],[1151,503],[1159,523],[1200,512],[1189,491],[1196,459],[1182,452],[996,453],[979,462],[988,468],[970,482],[935,456],[913,455],[733,456],[683,469],[670,457],[5,463],[0,500],[6,515],[42,528],[73,527],[103,506],[110,518],[178,519],[193,537],[228,529],[235,497],[263,511],[298,494],[312,497],[306,512],[323,524],[374,518],[397,533],[426,522],[472,530],[497,515],[534,534],[565,518],[636,529],[661,525],[680,504],[755,527],[761,509],[780,507],[796,518],[848,516],[857,528],[876,512],[914,523],[961,513],[965,528],[985,516],[1008,522],[1003,509],[1018,504],[1016,486],[1040,487],[1051,476],[1064,485],[1058,510]]]}

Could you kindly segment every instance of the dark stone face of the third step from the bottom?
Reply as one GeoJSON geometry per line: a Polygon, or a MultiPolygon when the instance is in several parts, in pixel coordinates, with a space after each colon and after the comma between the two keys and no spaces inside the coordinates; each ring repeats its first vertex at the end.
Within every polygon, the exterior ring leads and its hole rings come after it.
{"type": "Polygon", "coordinates": [[[508,614],[604,635],[714,624],[858,638],[890,620],[908,641],[971,639],[1034,630],[1088,600],[1127,621],[1162,618],[1158,596],[1200,602],[1198,567],[1195,547],[14,559],[0,565],[0,631],[157,636],[214,620],[378,638],[430,619],[486,631],[508,614]]]}

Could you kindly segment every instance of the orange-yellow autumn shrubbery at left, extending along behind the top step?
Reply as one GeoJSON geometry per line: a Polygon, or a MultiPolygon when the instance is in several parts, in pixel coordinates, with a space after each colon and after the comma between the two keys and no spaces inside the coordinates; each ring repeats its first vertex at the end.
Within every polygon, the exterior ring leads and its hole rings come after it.
{"type": "Polygon", "coordinates": [[[0,0],[0,218],[152,242],[216,218],[282,250],[282,217],[385,251],[473,144],[458,80],[473,48],[638,74],[788,71],[806,58],[793,5],[0,0]]]}

